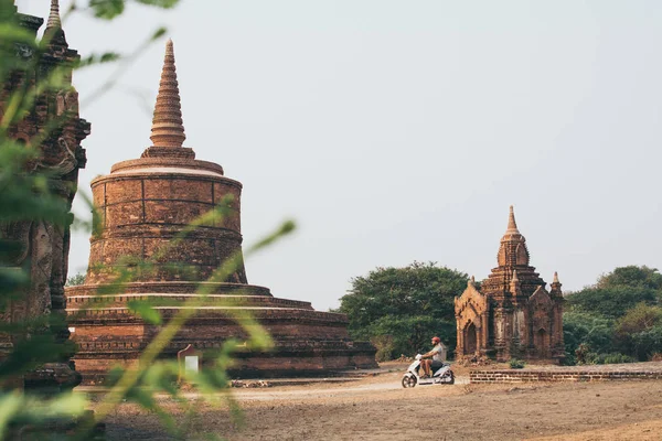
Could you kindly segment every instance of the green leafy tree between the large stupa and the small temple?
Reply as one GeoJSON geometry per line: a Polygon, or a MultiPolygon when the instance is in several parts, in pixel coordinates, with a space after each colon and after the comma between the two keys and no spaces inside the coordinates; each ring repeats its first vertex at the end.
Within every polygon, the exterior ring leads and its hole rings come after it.
{"type": "Polygon", "coordinates": [[[348,315],[352,337],[372,341],[382,361],[424,351],[434,335],[452,351],[453,298],[462,293],[467,280],[466,273],[435,262],[376,268],[352,279],[338,311],[348,315]]]}

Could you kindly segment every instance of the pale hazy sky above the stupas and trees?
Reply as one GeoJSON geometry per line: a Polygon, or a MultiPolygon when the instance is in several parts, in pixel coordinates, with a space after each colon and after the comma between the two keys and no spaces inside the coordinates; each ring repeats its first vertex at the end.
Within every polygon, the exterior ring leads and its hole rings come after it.
{"type": "MultiPolygon", "coordinates": [[[[49,3],[17,1],[44,18],[49,3]]],[[[324,311],[376,267],[485,278],[511,204],[531,263],[564,290],[662,267],[661,22],[655,0],[182,0],[129,2],[111,22],[79,11],[64,29],[86,56],[168,28],[184,146],[244,184],[245,246],[298,225],[246,261],[249,283],[324,311]]],[[[149,147],[163,51],[119,76],[76,72],[92,122],[81,192],[149,147]]],[[[74,211],[89,216],[78,196],[74,211]]],[[[70,275],[88,236],[73,236],[70,275]]]]}

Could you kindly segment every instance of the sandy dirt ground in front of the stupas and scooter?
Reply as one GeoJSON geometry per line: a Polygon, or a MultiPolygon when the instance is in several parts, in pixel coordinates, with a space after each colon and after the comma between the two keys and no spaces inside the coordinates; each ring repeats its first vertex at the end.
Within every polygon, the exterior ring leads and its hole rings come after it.
{"type": "MultiPolygon", "coordinates": [[[[228,440],[662,440],[662,381],[417,386],[401,372],[351,383],[235,389],[227,406],[191,398],[196,415],[180,439],[228,440]]],[[[465,383],[465,384],[462,384],[465,383]]],[[[184,416],[177,405],[160,404],[184,416]]],[[[122,405],[109,440],[174,440],[153,413],[122,405]]]]}

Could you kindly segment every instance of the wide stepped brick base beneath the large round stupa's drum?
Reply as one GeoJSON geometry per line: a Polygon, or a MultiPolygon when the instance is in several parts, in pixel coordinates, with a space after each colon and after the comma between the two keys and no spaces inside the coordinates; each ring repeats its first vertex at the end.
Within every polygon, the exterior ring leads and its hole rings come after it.
{"type": "MultiPolygon", "coordinates": [[[[196,284],[191,282],[127,283],[120,294],[96,295],[100,287],[71,287],[66,291],[72,338],[79,347],[74,359],[84,385],[102,384],[114,366],[137,367],[141,352],[159,332],[160,326],[129,311],[129,301],[166,304],[157,309],[167,322],[196,295],[196,284]]],[[[216,283],[214,288],[214,294],[197,308],[162,358],[177,359],[178,352],[191,344],[202,353],[203,366],[213,364],[213,356],[205,357],[205,353],[221,348],[228,338],[247,336],[232,313],[242,309],[270,334],[274,346],[266,352],[237,352],[231,369],[234,377],[317,376],[376,367],[375,348],[351,341],[344,314],[314,311],[309,302],[274,298],[263,287],[216,283]]]]}

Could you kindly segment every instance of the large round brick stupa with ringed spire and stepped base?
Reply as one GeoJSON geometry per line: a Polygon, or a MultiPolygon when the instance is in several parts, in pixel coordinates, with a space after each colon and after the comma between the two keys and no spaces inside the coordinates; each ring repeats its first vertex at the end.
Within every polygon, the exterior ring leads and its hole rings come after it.
{"type": "MultiPolygon", "coordinates": [[[[228,257],[242,252],[242,184],[225,178],[221,165],[196,160],[192,149],[182,147],[184,140],[169,41],[151,130],[153,144],[140,159],[119,162],[110,174],[92,182],[103,230],[90,239],[85,283],[66,290],[72,338],[79,346],[76,369],[84,384],[99,383],[113,365],[135,365],[158,332],[158,326],[130,312],[129,301],[183,302],[196,295],[201,283],[210,283],[205,280],[228,257]],[[227,196],[232,202],[222,224],[196,227],[181,244],[168,247],[227,196]],[[131,258],[156,259],[156,270],[136,275],[121,284],[120,293],[103,294],[131,258]],[[186,270],[173,270],[178,266],[172,263],[180,262],[185,262],[186,270]]],[[[237,375],[311,375],[376,366],[374,347],[350,340],[345,315],[314,311],[305,301],[274,298],[269,289],[248,284],[243,263],[225,282],[214,283],[213,292],[163,357],[175,358],[189,344],[199,351],[214,349],[229,337],[245,335],[227,314],[227,308],[243,308],[270,333],[275,347],[239,354],[237,375]],[[241,306],[228,306],[232,302],[241,306]]],[[[178,306],[159,309],[168,320],[178,306]]]]}

